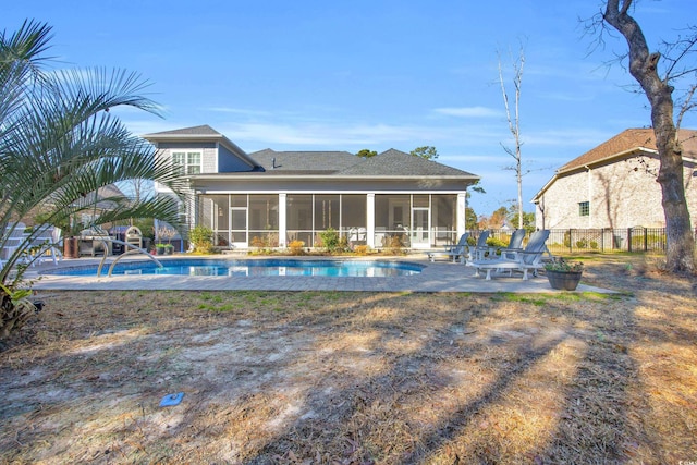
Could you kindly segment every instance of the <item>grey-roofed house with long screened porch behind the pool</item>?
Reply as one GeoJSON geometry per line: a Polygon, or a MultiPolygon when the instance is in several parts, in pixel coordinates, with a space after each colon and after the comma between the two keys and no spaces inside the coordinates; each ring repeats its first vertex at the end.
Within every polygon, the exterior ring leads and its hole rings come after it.
{"type": "Polygon", "coordinates": [[[246,154],[208,125],[143,137],[186,175],[194,199],[184,209],[187,223],[211,228],[222,247],[313,247],[329,228],[375,248],[453,243],[465,230],[467,187],[479,180],[394,149],[368,159],[347,151],[246,154]]]}

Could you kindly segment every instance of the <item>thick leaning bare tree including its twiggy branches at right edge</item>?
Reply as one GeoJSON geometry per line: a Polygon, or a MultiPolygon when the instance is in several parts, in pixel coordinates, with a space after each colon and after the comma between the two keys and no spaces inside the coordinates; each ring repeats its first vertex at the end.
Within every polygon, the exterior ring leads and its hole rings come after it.
{"type": "MultiPolygon", "coordinates": [[[[668,238],[667,267],[672,272],[695,271],[695,240],[692,233],[689,210],[685,198],[683,174],[683,148],[677,138],[677,129],[686,111],[695,108],[690,103],[695,85],[686,91],[682,109],[674,114],[673,82],[695,74],[695,68],[684,66],[684,60],[697,51],[697,30],[687,29],[687,38],[664,44],[665,72],[659,75],[660,52],[650,52],[646,37],[637,21],[629,14],[633,0],[607,0],[602,20],[597,24],[609,24],[626,39],[628,46],[629,73],[641,87],[651,107],[651,123],[660,158],[658,182],[661,185],[662,205],[665,215],[668,238]],[[677,124],[674,123],[674,118],[677,124]]],[[[685,12],[686,14],[688,12],[685,12]]]]}

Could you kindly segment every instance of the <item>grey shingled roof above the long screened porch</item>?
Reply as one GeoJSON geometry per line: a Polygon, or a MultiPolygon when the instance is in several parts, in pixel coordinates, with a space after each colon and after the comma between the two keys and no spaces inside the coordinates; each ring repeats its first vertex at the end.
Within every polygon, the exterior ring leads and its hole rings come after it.
{"type": "Polygon", "coordinates": [[[249,154],[268,174],[323,174],[347,178],[470,178],[475,174],[393,148],[370,158],[347,151],[276,151],[269,148],[249,154]],[[276,168],[273,168],[276,167],[276,168]]]}

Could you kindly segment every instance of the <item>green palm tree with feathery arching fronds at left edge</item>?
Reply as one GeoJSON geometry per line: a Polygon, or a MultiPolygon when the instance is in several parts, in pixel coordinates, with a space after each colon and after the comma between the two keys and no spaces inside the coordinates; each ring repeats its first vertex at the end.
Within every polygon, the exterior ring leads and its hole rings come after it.
{"type": "MultiPolygon", "coordinates": [[[[0,246],[13,224],[47,206],[45,221],[59,227],[105,200],[112,208],[93,220],[99,224],[130,218],[179,224],[183,180],[110,112],[129,106],[157,114],[156,103],[142,95],[148,83],[121,70],[48,70],[50,33],[47,24],[25,21],[16,33],[0,34],[0,246]],[[158,181],[175,196],[134,200],[96,194],[132,180],[158,181]]],[[[0,269],[0,336],[21,323],[10,315],[16,314],[16,293],[27,287],[22,259],[32,240],[0,269]]]]}

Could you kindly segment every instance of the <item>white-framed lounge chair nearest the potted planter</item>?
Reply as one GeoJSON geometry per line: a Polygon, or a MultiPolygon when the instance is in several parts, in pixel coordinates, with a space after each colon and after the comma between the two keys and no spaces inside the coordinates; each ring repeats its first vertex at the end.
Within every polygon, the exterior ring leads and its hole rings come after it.
{"type": "Polygon", "coordinates": [[[543,268],[542,257],[547,250],[547,238],[549,230],[536,231],[530,236],[527,245],[523,250],[508,250],[501,254],[496,260],[472,260],[467,261],[467,266],[475,268],[475,277],[479,277],[480,270],[487,270],[487,280],[491,279],[491,271],[521,271],[523,279],[528,279],[528,270],[537,273],[538,269],[543,268]]]}

